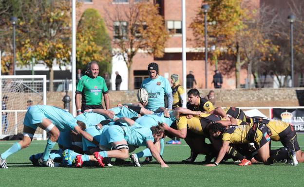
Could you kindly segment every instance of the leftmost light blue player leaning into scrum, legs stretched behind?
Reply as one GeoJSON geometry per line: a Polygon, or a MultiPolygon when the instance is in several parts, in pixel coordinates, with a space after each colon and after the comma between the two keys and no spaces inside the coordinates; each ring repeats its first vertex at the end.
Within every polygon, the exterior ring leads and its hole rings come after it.
{"type": "MultiPolygon", "coordinates": [[[[81,130],[78,126],[84,125],[83,122],[77,121],[70,113],[54,106],[31,106],[25,114],[23,125],[23,139],[16,142],[12,147],[0,155],[0,168],[7,168],[5,160],[9,155],[16,153],[31,144],[37,127],[44,129],[50,135],[42,158],[39,159],[42,165],[48,167],[54,167],[54,162],[49,158],[49,154],[56,144],[60,131],[73,130],[76,134],[80,134],[91,142],[93,141],[93,137],[81,130]]],[[[98,142],[95,143],[98,144],[98,142]]]]}

